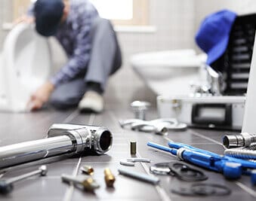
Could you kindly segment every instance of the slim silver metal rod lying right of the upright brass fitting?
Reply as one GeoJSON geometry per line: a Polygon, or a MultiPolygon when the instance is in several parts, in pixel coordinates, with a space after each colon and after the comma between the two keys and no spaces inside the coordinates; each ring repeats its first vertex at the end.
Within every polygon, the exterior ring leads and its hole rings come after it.
{"type": "Polygon", "coordinates": [[[156,178],[154,176],[151,176],[151,175],[147,175],[147,174],[144,174],[142,172],[134,172],[134,171],[131,171],[131,170],[128,170],[128,169],[118,169],[119,171],[119,174],[120,175],[125,175],[125,176],[128,176],[130,178],[135,178],[137,180],[140,180],[140,181],[145,181],[147,183],[150,183],[150,184],[159,184],[159,178],[156,178]]]}

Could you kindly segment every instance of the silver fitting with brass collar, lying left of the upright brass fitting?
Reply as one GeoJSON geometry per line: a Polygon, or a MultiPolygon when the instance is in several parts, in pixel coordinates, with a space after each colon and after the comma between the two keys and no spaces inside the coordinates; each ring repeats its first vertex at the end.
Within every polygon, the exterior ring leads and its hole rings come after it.
{"type": "Polygon", "coordinates": [[[63,174],[61,175],[62,181],[72,183],[74,185],[83,187],[84,190],[88,191],[94,191],[97,188],[100,187],[97,182],[91,178],[91,176],[85,176],[85,175],[78,175],[78,176],[73,176],[73,175],[66,175],[63,174]]]}

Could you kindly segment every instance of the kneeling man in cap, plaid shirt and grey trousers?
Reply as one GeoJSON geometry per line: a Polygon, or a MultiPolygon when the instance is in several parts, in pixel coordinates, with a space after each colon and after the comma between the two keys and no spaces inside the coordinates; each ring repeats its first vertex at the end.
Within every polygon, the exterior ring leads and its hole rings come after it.
{"type": "Polygon", "coordinates": [[[60,109],[103,111],[106,82],[122,65],[109,20],[100,18],[88,0],[37,0],[21,20],[35,21],[40,35],[56,37],[68,56],[66,65],[32,94],[31,110],[50,103],[60,109]]]}

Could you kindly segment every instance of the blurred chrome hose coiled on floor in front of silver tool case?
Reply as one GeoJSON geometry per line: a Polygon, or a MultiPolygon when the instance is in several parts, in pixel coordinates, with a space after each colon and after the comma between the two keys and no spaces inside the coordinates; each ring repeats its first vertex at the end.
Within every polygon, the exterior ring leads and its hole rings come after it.
{"type": "Polygon", "coordinates": [[[179,123],[177,122],[177,120],[171,118],[156,120],[119,120],[119,124],[122,128],[128,127],[132,130],[138,130],[141,132],[155,132],[159,135],[166,135],[168,133],[168,130],[187,129],[187,124],[179,123]]]}

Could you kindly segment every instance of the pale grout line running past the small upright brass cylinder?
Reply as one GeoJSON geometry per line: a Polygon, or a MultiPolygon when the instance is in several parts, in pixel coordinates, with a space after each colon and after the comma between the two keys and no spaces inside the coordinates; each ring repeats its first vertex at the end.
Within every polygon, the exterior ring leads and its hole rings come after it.
{"type": "MultiPolygon", "coordinates": [[[[113,113],[113,111],[108,111],[108,113],[109,113],[109,116],[112,118],[112,120],[115,123],[119,122],[118,119],[116,118],[115,114],[113,113]]],[[[128,139],[127,138],[125,138],[125,139],[128,142],[128,139]]],[[[137,151],[137,157],[140,157],[140,154],[138,151],[137,151]]],[[[140,164],[143,167],[144,171],[147,172],[147,175],[150,175],[150,171],[147,169],[146,164],[145,163],[140,163],[140,164]]],[[[161,186],[159,186],[159,184],[155,185],[155,187],[156,187],[156,191],[157,191],[157,193],[159,193],[159,196],[162,199],[162,201],[171,201],[171,198],[168,196],[168,193],[166,193],[166,191],[161,186]]]]}

